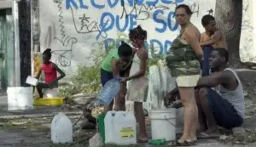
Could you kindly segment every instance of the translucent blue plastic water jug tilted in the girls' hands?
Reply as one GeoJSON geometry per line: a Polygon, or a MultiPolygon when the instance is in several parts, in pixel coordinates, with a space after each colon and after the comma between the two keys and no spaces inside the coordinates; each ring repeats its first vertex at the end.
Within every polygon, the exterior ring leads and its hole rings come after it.
{"type": "Polygon", "coordinates": [[[120,89],[120,77],[109,80],[101,92],[97,95],[97,99],[100,105],[109,105],[113,98],[119,93],[120,89]]]}

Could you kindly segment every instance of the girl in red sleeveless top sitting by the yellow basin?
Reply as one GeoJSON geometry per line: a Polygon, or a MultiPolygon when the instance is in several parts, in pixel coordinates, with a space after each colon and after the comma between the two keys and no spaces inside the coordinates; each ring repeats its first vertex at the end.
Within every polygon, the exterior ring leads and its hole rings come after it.
{"type": "Polygon", "coordinates": [[[61,69],[55,65],[55,63],[49,61],[51,58],[51,49],[47,48],[43,53],[43,64],[40,66],[40,70],[38,71],[38,75],[36,78],[38,79],[41,75],[41,72],[44,71],[45,82],[38,82],[37,89],[40,98],[43,98],[43,88],[58,88],[58,81],[61,80],[66,74],[61,71],[61,69]],[[61,74],[61,76],[57,76],[57,72],[61,74]]]}

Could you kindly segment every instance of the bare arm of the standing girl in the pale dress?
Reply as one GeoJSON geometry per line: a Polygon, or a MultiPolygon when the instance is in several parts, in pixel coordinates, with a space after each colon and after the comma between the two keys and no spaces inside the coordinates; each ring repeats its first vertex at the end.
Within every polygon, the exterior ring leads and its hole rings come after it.
{"type": "Polygon", "coordinates": [[[148,53],[146,51],[143,51],[140,54],[138,54],[138,56],[141,59],[140,71],[138,71],[134,75],[130,75],[130,76],[126,77],[125,81],[129,81],[131,79],[135,79],[135,78],[138,78],[140,76],[144,76],[145,75],[146,69],[147,69],[148,53]]]}

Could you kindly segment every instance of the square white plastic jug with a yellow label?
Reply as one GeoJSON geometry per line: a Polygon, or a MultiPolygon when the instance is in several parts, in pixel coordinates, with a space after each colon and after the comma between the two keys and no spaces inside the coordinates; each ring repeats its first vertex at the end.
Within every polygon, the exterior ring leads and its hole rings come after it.
{"type": "Polygon", "coordinates": [[[108,111],[104,123],[106,144],[137,144],[136,119],[133,113],[108,111]]]}

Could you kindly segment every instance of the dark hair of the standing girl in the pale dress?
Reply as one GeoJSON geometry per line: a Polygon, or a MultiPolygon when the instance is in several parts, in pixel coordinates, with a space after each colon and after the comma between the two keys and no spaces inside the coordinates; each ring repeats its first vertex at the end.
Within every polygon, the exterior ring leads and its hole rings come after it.
{"type": "Polygon", "coordinates": [[[147,31],[144,31],[141,25],[137,25],[136,28],[131,29],[129,33],[129,38],[132,39],[142,39],[145,40],[147,39],[147,31]]]}

